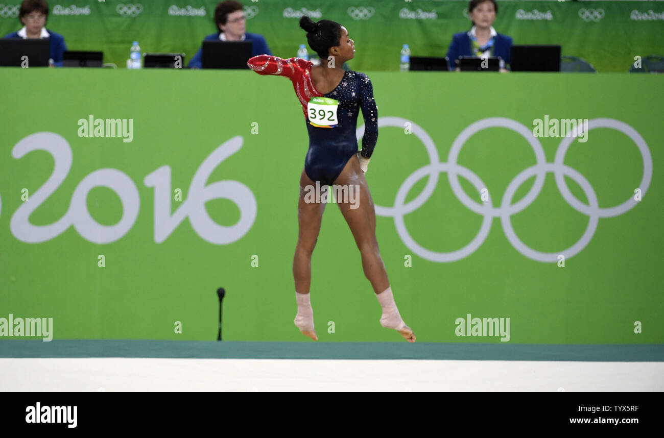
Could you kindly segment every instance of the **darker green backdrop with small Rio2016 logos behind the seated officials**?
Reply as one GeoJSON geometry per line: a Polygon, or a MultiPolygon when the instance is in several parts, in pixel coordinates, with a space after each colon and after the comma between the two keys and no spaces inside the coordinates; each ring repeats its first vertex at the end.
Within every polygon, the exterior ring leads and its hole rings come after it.
{"type": "MultiPolygon", "coordinates": [[[[104,62],[126,66],[131,42],[143,52],[185,53],[185,62],[217,31],[212,0],[51,0],[46,27],[69,50],[102,50],[104,62]]],[[[245,1],[251,33],[266,37],[277,56],[305,44],[299,17],[331,19],[355,40],[355,70],[398,70],[403,44],[412,56],[445,56],[452,35],[466,31],[467,1],[245,1]]],[[[0,35],[21,27],[20,1],[0,5],[0,35]]],[[[627,72],[641,58],[664,55],[664,3],[658,1],[499,1],[494,27],[515,44],[560,44],[599,72],[627,72]]]]}

